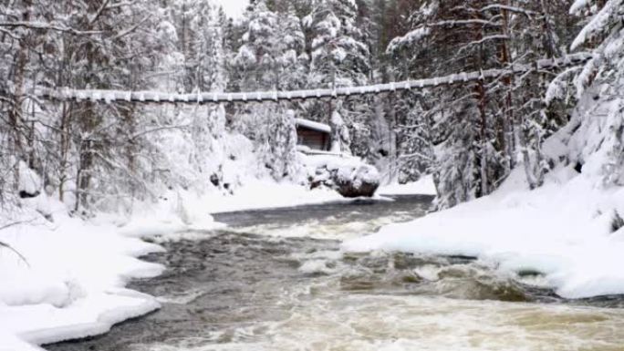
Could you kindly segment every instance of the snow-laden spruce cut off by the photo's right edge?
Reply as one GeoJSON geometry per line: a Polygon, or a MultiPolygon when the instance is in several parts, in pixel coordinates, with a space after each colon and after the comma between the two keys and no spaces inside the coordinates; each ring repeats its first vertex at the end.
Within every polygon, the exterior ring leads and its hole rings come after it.
{"type": "Polygon", "coordinates": [[[624,186],[624,3],[577,0],[570,12],[589,18],[572,48],[593,48],[594,57],[575,78],[580,101],[565,130],[567,157],[603,185],[624,186]]]}

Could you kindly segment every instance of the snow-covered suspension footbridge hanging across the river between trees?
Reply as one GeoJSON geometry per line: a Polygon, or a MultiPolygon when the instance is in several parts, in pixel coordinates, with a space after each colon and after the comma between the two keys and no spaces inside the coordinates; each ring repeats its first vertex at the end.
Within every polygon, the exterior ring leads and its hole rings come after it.
{"type": "Polygon", "coordinates": [[[558,67],[577,66],[588,62],[591,54],[578,53],[567,57],[540,59],[532,65],[515,65],[510,68],[487,69],[477,72],[463,72],[445,77],[432,77],[417,80],[404,80],[388,84],[377,84],[361,87],[322,88],[293,91],[255,91],[239,93],[192,93],[172,94],[159,91],[120,91],[98,89],[70,88],[37,88],[35,95],[39,98],[55,100],[90,100],[101,102],[127,101],[151,103],[192,103],[210,104],[224,102],[264,102],[280,100],[297,100],[310,98],[338,98],[358,95],[373,95],[399,90],[433,88],[451,86],[465,82],[486,80],[508,75],[525,74],[531,71],[555,69],[558,67]]]}

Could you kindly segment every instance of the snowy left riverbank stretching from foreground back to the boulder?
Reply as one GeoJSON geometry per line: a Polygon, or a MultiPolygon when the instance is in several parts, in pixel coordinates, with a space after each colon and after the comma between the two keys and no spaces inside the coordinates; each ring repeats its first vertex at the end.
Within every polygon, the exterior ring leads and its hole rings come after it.
{"type": "Polygon", "coordinates": [[[130,218],[101,215],[83,221],[69,217],[56,201],[38,199],[47,201],[54,217],[47,222],[26,204],[12,220],[0,222],[23,221],[0,231],[0,242],[26,258],[0,249],[0,350],[36,350],[34,345],[98,335],[159,308],[153,297],[124,288],[130,279],[153,277],[165,268],[137,258],[162,250],[140,238],[175,239],[182,232],[221,226],[210,212],[339,198],[334,191],[258,181],[235,195],[170,194],[167,201],[138,205],[130,218]]]}

